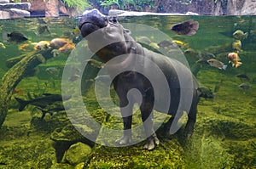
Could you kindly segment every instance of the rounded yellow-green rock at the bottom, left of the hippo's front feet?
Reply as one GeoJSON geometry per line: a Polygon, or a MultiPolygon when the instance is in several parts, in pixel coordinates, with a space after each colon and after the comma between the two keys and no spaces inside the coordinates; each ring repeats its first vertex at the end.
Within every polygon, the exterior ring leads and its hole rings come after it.
{"type": "Polygon", "coordinates": [[[71,165],[77,165],[90,155],[90,151],[91,148],[89,145],[79,142],[71,145],[70,148],[67,149],[64,159],[71,165]]]}

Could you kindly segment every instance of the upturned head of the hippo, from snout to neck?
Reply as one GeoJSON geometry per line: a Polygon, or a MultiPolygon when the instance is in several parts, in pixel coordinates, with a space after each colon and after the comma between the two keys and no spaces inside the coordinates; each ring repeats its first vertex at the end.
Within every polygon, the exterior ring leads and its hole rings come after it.
{"type": "Polygon", "coordinates": [[[97,9],[84,11],[79,20],[79,29],[88,40],[90,51],[104,62],[121,54],[135,53],[137,48],[129,30],[97,9]]]}

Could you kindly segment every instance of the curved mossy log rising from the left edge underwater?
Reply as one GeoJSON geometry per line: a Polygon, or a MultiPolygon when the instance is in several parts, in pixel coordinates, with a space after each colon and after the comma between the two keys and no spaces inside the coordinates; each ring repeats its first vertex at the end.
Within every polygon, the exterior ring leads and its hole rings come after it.
{"type": "Polygon", "coordinates": [[[0,81],[0,127],[2,127],[7,115],[9,102],[15,87],[30,70],[52,57],[51,50],[28,53],[20,58],[20,61],[13,65],[3,76],[0,81]]]}

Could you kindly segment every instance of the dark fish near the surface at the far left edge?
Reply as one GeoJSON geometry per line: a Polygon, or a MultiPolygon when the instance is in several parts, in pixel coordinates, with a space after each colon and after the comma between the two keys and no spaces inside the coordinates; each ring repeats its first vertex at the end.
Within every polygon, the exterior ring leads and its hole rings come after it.
{"type": "Polygon", "coordinates": [[[3,39],[7,40],[8,42],[25,42],[28,38],[21,33],[20,31],[12,31],[11,33],[2,32],[3,39]]]}

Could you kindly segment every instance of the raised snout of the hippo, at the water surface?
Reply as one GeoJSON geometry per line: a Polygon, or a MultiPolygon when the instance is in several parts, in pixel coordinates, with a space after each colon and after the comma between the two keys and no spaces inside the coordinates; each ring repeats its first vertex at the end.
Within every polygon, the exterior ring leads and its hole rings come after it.
{"type": "Polygon", "coordinates": [[[84,11],[79,20],[79,29],[83,37],[87,37],[93,31],[108,25],[108,17],[100,13],[97,9],[84,11]]]}

